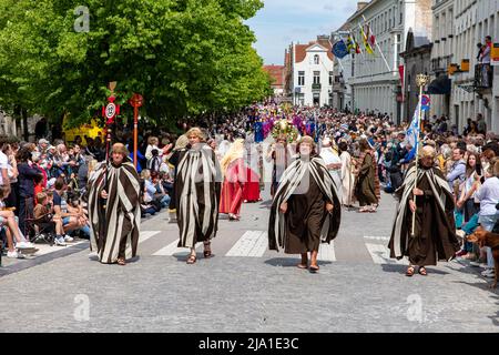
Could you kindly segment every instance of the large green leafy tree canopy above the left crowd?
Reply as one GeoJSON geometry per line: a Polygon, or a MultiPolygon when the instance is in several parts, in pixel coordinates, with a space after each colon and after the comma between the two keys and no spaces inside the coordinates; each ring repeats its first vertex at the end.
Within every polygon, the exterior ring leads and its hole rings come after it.
{"type": "Polygon", "coordinates": [[[261,0],[86,0],[90,31],[77,32],[80,0],[0,0],[0,106],[22,106],[70,125],[100,115],[118,81],[125,115],[165,120],[233,111],[269,94],[243,20],[261,0]]]}

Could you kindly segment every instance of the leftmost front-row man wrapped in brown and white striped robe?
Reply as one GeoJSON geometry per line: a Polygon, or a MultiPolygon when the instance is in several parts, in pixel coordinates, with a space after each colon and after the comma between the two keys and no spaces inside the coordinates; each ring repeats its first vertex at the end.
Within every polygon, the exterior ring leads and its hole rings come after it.
{"type": "Polygon", "coordinates": [[[111,163],[101,163],[89,180],[91,250],[103,264],[125,265],[139,244],[140,178],[122,143],[111,154],[111,163]]]}

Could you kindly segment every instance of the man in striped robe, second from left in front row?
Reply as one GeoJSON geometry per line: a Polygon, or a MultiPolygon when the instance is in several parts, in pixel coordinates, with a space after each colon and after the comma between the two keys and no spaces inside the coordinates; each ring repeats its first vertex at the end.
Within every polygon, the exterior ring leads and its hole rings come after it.
{"type": "Polygon", "coordinates": [[[218,229],[218,202],[222,173],[215,152],[204,142],[198,128],[186,136],[189,146],[179,156],[175,175],[179,247],[191,248],[187,264],[196,262],[195,245],[204,244],[204,257],[211,257],[211,240],[218,229]]]}

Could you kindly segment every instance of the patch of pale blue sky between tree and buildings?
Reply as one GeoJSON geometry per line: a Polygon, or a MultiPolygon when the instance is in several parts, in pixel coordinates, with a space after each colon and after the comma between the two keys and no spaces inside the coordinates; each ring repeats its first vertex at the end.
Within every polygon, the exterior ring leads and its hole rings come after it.
{"type": "Polygon", "coordinates": [[[253,44],[265,64],[284,64],[292,42],[308,43],[330,34],[354,14],[358,0],[264,0],[254,18],[245,21],[255,32],[253,44]]]}

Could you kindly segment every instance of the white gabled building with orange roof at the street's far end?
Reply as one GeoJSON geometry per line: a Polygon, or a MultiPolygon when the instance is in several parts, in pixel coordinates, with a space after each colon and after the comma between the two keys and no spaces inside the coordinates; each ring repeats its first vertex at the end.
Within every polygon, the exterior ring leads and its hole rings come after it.
{"type": "Polygon", "coordinates": [[[333,105],[334,55],[328,36],[286,51],[288,94],[297,105],[333,105]]]}

